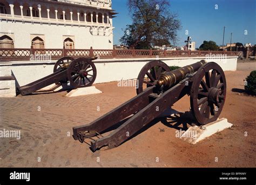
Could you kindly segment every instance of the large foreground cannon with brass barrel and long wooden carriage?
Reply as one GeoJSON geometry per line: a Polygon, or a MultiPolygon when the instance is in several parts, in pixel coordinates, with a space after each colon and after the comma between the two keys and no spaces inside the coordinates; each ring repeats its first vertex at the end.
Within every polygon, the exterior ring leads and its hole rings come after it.
{"type": "Polygon", "coordinates": [[[73,127],[73,138],[81,143],[85,138],[91,139],[92,151],[113,148],[185,95],[190,95],[191,112],[201,125],[217,120],[225,103],[225,74],[214,62],[201,60],[170,71],[164,62],[151,61],[140,71],[137,83],[137,96],[90,124],[73,127]],[[117,128],[113,130],[114,127],[117,128]]]}

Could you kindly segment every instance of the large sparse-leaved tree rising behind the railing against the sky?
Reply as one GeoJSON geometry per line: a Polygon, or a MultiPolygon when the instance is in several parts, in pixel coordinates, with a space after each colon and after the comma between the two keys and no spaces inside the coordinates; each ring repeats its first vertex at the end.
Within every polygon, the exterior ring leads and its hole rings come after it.
{"type": "Polygon", "coordinates": [[[129,0],[132,24],[126,25],[122,44],[136,49],[148,49],[153,45],[170,45],[177,40],[181,28],[176,14],[169,9],[168,0],[129,0]]]}

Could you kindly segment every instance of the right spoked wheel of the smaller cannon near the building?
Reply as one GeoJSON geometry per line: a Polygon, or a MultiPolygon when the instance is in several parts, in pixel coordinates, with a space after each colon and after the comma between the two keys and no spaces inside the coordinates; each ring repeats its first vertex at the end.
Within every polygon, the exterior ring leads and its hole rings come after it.
{"type": "Polygon", "coordinates": [[[88,87],[95,81],[97,70],[91,59],[78,58],[70,63],[67,75],[74,88],[88,87]]]}

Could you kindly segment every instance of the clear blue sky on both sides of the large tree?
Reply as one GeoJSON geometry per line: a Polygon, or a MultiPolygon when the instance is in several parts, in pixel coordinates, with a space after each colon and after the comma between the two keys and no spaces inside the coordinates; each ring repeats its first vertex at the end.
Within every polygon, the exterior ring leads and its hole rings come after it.
{"type": "MultiPolygon", "coordinates": [[[[123,30],[132,22],[126,2],[127,0],[112,0],[112,9],[119,13],[113,18],[114,44],[120,44],[119,39],[124,33],[123,30]]],[[[204,40],[213,40],[217,45],[222,45],[224,26],[226,27],[224,44],[230,43],[231,32],[232,42],[256,44],[255,2],[255,0],[170,0],[170,11],[178,14],[182,26],[178,31],[177,45],[184,45],[188,35],[196,41],[196,47],[199,47],[204,40]],[[217,10],[215,5],[218,5],[217,10]],[[188,35],[185,34],[186,30],[188,35]]]]}

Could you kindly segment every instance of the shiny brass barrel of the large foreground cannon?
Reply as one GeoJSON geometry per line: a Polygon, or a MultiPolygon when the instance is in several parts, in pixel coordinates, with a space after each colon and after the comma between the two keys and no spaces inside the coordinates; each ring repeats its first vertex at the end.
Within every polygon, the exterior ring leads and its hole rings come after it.
{"type": "Polygon", "coordinates": [[[187,75],[196,72],[205,63],[206,63],[205,60],[201,60],[200,62],[196,62],[196,63],[193,63],[192,65],[187,65],[187,66],[172,70],[171,72],[164,72],[159,76],[157,80],[157,86],[158,87],[164,86],[169,88],[173,84],[176,84],[177,82],[185,79],[187,75]]]}

